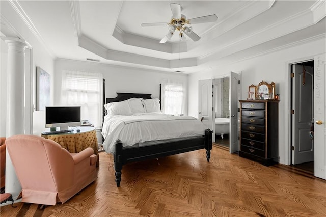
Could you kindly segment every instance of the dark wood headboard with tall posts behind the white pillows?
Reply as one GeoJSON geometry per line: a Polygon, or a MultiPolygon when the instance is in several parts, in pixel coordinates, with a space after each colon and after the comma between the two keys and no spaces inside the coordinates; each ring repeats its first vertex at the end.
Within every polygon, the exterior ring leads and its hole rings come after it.
{"type": "MultiPolygon", "coordinates": [[[[159,106],[161,108],[161,84],[159,84],[159,106]]],[[[143,99],[151,99],[152,94],[149,93],[117,93],[117,96],[115,98],[105,98],[105,79],[103,79],[103,105],[110,102],[121,102],[127,99],[131,98],[143,98],[143,99]]],[[[103,122],[104,122],[104,116],[106,115],[106,110],[103,108],[103,122]]]]}

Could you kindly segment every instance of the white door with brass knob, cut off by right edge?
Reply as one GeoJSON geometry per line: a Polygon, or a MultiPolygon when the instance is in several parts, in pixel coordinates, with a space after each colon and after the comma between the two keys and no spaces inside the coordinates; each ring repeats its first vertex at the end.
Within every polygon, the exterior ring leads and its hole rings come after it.
{"type": "Polygon", "coordinates": [[[326,55],[314,58],[315,176],[326,179],[326,55]]]}

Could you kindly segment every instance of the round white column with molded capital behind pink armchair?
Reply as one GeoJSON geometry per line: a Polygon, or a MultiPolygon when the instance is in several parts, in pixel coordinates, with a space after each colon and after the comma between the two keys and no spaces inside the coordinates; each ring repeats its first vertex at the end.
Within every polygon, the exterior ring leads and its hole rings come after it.
{"type": "MultiPolygon", "coordinates": [[[[8,44],[6,137],[24,134],[24,64],[26,43],[3,38],[8,44]]],[[[15,169],[6,151],[6,193],[16,199],[21,191],[15,169]]]]}

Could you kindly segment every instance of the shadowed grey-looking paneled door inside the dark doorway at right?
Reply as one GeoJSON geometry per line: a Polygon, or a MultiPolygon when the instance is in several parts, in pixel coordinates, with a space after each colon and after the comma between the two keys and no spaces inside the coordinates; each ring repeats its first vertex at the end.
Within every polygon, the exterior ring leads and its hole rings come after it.
{"type": "Polygon", "coordinates": [[[292,164],[314,161],[314,140],[310,136],[313,124],[313,67],[292,65],[292,164]]]}

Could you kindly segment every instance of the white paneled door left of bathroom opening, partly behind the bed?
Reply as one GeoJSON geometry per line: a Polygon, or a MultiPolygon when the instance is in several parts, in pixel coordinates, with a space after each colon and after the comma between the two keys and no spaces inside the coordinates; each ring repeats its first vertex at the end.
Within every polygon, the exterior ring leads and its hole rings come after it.
{"type": "MultiPolygon", "coordinates": [[[[198,118],[206,125],[207,129],[213,130],[213,87],[212,79],[199,80],[198,85],[198,118]]],[[[215,125],[215,121],[214,121],[215,125]]],[[[213,134],[213,133],[212,133],[213,134]]],[[[215,135],[215,134],[214,134],[215,135]]],[[[215,136],[212,136],[215,142],[215,136]]]]}

